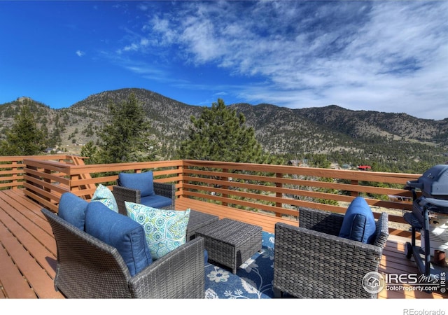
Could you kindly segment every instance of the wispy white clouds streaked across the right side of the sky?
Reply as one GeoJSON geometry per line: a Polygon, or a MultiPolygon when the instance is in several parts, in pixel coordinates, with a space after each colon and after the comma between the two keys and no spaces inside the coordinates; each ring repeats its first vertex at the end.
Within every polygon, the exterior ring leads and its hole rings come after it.
{"type": "Polygon", "coordinates": [[[448,116],[446,1],[181,1],[173,8],[147,10],[144,33],[123,50],[155,57],[170,50],[183,64],[252,80],[228,85],[241,102],[448,116]]]}

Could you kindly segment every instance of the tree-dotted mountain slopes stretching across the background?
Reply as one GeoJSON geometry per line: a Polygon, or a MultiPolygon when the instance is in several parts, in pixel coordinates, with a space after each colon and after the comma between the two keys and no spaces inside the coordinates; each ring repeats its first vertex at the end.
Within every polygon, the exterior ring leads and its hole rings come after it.
{"type": "MultiPolygon", "coordinates": [[[[108,104],[121,104],[134,93],[143,104],[162,148],[160,158],[174,156],[188,134],[190,116],[202,107],[183,104],[144,89],[120,89],[92,94],[67,109],[50,109],[21,97],[0,105],[0,130],[13,123],[23,104],[31,105],[36,121],[48,130],[54,146],[79,153],[79,144],[97,142],[96,132],[109,122],[108,104]]],[[[405,113],[351,111],[331,105],[322,108],[288,109],[272,104],[232,104],[246,117],[265,150],[297,158],[323,153],[333,159],[371,161],[428,160],[441,157],[448,146],[448,119],[424,120],[405,113]]]]}

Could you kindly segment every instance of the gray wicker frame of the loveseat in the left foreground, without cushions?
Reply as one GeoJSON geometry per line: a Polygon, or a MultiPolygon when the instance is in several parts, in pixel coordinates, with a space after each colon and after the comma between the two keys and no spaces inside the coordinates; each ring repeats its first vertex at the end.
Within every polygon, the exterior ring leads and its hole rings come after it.
{"type": "Polygon", "coordinates": [[[57,244],[55,289],[73,298],[204,298],[204,239],[197,237],[135,276],[118,250],[42,209],[57,244]]]}

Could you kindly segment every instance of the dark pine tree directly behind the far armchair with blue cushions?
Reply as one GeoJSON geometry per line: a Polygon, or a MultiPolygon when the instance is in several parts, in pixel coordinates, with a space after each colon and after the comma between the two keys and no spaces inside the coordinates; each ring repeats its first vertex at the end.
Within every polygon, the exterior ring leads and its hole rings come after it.
{"type": "Polygon", "coordinates": [[[138,162],[155,159],[151,124],[134,93],[121,106],[109,104],[111,122],[99,132],[99,157],[104,163],[138,162]]]}

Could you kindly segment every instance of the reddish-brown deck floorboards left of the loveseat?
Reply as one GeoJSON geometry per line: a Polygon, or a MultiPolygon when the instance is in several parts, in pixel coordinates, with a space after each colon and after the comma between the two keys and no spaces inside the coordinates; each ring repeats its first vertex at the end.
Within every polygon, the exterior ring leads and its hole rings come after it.
{"type": "Polygon", "coordinates": [[[2,263],[3,294],[9,298],[63,297],[53,285],[56,244],[50,235],[50,225],[38,215],[40,207],[20,190],[1,191],[0,200],[2,262],[16,270],[9,274],[3,272],[2,263]]]}

